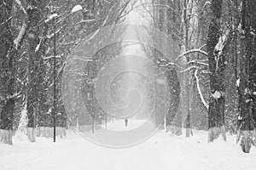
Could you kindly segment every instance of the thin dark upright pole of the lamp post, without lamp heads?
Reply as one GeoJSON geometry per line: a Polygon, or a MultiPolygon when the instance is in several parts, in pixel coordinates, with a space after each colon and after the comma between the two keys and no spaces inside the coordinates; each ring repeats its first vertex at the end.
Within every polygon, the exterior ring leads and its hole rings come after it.
{"type": "Polygon", "coordinates": [[[53,121],[54,121],[54,142],[56,141],[56,20],[54,18],[54,100],[53,100],[53,121]]]}

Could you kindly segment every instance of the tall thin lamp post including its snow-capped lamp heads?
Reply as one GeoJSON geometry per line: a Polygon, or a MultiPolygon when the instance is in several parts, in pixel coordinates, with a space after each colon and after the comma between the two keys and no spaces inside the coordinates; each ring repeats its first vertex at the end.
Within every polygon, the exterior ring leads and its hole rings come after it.
{"type": "MultiPolygon", "coordinates": [[[[64,17],[64,19],[62,20],[66,20],[71,14],[79,12],[80,10],[82,10],[83,8],[80,5],[76,5],[73,7],[72,11],[70,14],[67,14],[66,17],[64,17]]],[[[56,100],[57,100],[57,93],[56,93],[56,25],[60,23],[56,22],[56,17],[58,16],[58,14],[52,14],[51,17],[53,19],[53,25],[54,25],[54,77],[53,77],[53,125],[54,125],[54,142],[56,141],[56,100]]]]}

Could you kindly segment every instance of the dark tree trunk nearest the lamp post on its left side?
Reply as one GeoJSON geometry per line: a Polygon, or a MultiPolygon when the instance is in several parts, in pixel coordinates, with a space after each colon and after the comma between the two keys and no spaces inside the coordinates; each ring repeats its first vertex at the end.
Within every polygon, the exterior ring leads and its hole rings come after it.
{"type": "Polygon", "coordinates": [[[36,114],[38,111],[38,92],[39,80],[38,75],[40,72],[40,56],[38,54],[39,43],[39,26],[38,20],[41,20],[39,11],[39,4],[33,1],[28,1],[29,8],[27,8],[28,16],[28,85],[27,85],[27,133],[31,142],[35,142],[35,127],[36,127],[36,114]]]}

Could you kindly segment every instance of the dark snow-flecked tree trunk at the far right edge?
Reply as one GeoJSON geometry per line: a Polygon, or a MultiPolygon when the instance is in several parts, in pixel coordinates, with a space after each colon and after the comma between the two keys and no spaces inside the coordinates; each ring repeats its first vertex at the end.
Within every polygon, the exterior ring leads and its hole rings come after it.
{"type": "Polygon", "coordinates": [[[239,115],[238,138],[241,149],[248,153],[253,144],[256,121],[256,29],[255,1],[242,1],[241,8],[241,57],[238,84],[239,115]]]}

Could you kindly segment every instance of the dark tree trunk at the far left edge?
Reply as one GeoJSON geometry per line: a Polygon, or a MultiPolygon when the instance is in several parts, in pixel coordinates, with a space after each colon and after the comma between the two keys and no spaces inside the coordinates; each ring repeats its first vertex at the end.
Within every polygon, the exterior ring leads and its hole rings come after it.
{"type": "Polygon", "coordinates": [[[13,1],[0,1],[0,141],[12,144],[15,108],[15,56],[14,38],[11,31],[13,1]]]}

